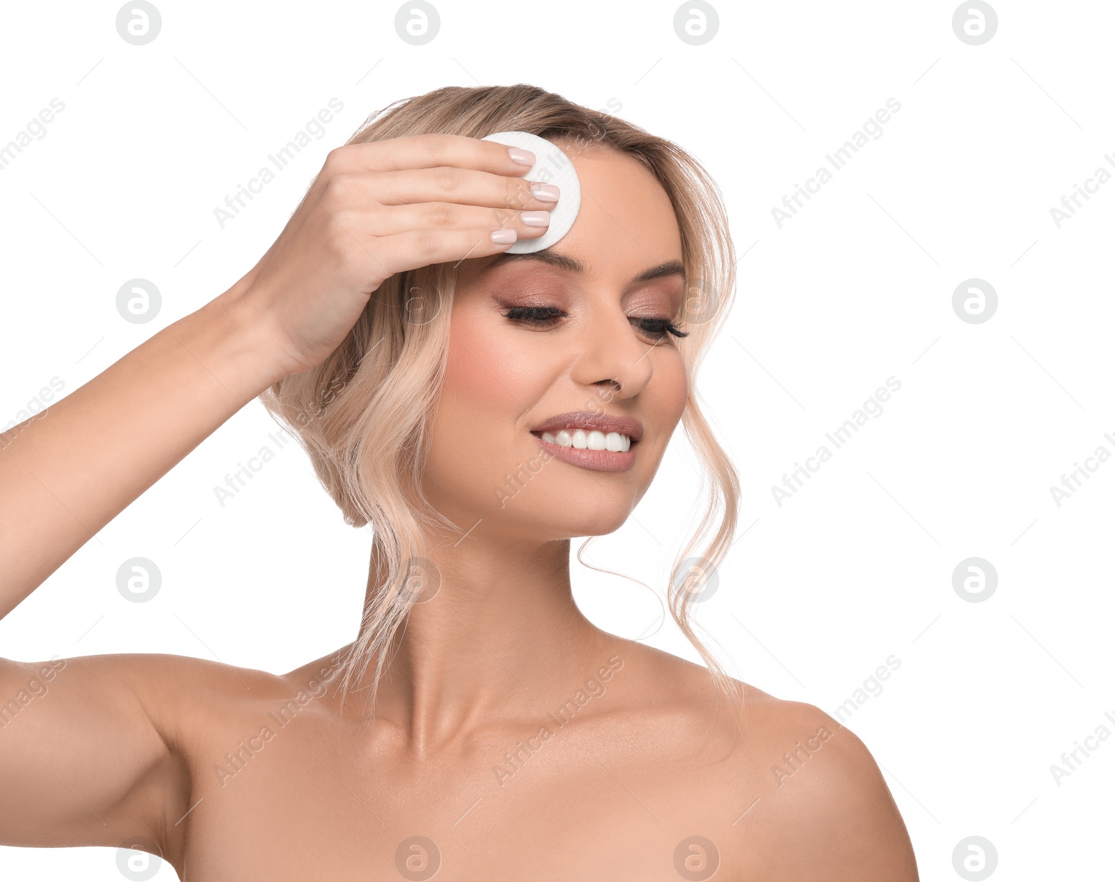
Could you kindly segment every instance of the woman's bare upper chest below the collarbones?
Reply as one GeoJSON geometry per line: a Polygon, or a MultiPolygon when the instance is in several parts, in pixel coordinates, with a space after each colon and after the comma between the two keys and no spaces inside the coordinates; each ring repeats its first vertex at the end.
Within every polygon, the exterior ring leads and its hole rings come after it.
{"type": "Polygon", "coordinates": [[[185,879],[743,880],[746,787],[637,740],[524,734],[453,756],[303,728],[193,760],[185,879]]]}

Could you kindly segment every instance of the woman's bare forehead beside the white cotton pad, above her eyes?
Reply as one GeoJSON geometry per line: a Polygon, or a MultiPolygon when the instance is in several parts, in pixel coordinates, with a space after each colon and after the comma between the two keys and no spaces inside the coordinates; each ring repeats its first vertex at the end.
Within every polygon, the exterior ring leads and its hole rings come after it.
{"type": "MultiPolygon", "coordinates": [[[[578,264],[585,273],[627,281],[650,266],[681,261],[673,205],[646,166],[613,149],[558,144],[580,178],[581,207],[570,231],[545,250],[546,264],[578,264]]],[[[500,264],[540,263],[525,254],[468,260],[462,264],[462,281],[500,264]]]]}

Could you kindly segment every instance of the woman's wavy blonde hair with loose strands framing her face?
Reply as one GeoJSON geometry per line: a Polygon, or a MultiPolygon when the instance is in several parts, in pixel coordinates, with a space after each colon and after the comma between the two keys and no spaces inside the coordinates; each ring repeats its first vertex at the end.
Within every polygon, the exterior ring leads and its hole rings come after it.
{"type": "MultiPolygon", "coordinates": [[[[692,381],[735,287],[736,261],[719,191],[700,164],[671,142],[525,84],[453,86],[396,101],[372,114],[348,144],[506,130],[539,135],[570,156],[602,148],[631,156],[655,175],[673,205],[688,287],[678,318],[689,336],[677,340],[690,390],[682,425],[711,481],[701,482],[709,505],[671,568],[667,594],[675,622],[701,655],[712,685],[738,710],[740,684],[697,638],[690,621],[696,595],[688,580],[682,583],[688,573],[681,571],[719,510],[715,534],[700,554],[702,569],[715,571],[730,547],[738,517],[736,471],[701,414],[692,381]]],[[[417,597],[408,580],[424,553],[423,527],[459,532],[428,510],[420,491],[429,423],[445,376],[456,275],[454,264],[442,263],[390,277],[324,361],[279,380],[261,396],[268,411],[309,453],[346,523],[372,527],[380,563],[341,679],[346,694],[375,659],[372,705],[391,641],[417,597]]]]}

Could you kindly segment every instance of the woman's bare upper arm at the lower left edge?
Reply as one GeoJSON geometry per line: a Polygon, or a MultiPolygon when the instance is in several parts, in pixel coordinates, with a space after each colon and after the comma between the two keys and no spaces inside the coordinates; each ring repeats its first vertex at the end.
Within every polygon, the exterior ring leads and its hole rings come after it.
{"type": "Polygon", "coordinates": [[[190,796],[159,720],[175,661],[0,660],[0,844],[172,846],[168,818],[190,796]]]}

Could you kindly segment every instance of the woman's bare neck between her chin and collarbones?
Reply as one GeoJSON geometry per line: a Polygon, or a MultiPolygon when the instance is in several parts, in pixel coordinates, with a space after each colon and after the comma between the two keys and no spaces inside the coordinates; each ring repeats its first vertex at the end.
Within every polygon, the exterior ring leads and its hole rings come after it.
{"type": "Polygon", "coordinates": [[[476,539],[432,552],[434,569],[418,574],[426,593],[396,632],[375,716],[425,754],[485,723],[543,715],[592,676],[611,638],[576,608],[569,554],[569,540],[476,539]]]}

